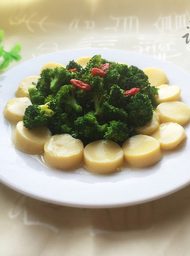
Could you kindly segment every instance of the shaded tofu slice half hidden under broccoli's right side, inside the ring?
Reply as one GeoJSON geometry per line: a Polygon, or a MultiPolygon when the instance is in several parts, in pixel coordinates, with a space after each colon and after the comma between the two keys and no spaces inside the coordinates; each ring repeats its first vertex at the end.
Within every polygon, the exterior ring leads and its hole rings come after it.
{"type": "Polygon", "coordinates": [[[136,128],[138,134],[149,135],[158,129],[160,125],[159,115],[155,111],[153,112],[151,122],[147,123],[145,126],[140,126],[136,128]]]}

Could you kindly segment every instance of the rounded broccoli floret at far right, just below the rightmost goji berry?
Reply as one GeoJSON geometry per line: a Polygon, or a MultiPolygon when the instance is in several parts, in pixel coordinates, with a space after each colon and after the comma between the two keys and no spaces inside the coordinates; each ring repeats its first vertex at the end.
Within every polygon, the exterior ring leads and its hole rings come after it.
{"type": "Polygon", "coordinates": [[[153,116],[153,106],[148,95],[140,92],[131,97],[127,104],[127,113],[130,126],[144,126],[151,121],[153,116]]]}

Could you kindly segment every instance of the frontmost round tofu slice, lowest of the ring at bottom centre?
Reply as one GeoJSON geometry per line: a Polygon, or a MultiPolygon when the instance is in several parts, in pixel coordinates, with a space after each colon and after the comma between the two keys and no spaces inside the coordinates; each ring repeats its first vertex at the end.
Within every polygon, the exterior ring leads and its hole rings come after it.
{"type": "Polygon", "coordinates": [[[123,150],[111,140],[93,141],[84,148],[84,163],[94,173],[116,172],[123,163],[123,150]]]}

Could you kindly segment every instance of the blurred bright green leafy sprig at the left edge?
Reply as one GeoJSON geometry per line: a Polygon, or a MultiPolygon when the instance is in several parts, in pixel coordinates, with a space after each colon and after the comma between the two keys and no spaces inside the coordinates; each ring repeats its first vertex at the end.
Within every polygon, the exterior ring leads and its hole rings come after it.
{"type": "Polygon", "coordinates": [[[0,70],[6,69],[9,64],[13,61],[21,60],[21,45],[16,44],[10,51],[5,51],[4,47],[1,45],[4,37],[4,31],[0,30],[0,70]]]}

